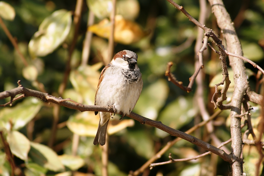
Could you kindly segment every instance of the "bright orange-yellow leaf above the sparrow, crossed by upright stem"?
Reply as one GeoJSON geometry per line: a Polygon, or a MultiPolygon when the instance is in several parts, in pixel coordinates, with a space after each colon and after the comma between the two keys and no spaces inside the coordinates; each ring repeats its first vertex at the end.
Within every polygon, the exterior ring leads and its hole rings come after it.
{"type": "MultiPolygon", "coordinates": [[[[90,26],[89,31],[108,39],[110,26],[109,19],[105,18],[100,23],[90,26]]],[[[128,45],[139,41],[146,35],[147,33],[137,23],[125,20],[121,15],[115,16],[114,40],[116,42],[128,45]]]]}

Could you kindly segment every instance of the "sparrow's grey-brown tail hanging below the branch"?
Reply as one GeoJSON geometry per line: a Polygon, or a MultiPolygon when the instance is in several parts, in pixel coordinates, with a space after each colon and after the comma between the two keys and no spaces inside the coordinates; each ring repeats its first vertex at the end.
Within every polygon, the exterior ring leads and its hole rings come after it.
{"type": "Polygon", "coordinates": [[[105,145],[107,125],[111,116],[108,112],[99,112],[99,116],[100,121],[95,135],[95,140],[93,140],[93,144],[97,145],[99,143],[100,145],[105,145]]]}

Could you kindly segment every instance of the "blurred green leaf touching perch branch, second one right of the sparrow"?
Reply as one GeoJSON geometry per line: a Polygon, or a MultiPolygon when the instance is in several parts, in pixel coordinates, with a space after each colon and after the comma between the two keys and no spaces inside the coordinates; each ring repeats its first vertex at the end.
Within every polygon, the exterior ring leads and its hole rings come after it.
{"type": "MultiPolygon", "coordinates": [[[[192,104],[192,99],[179,97],[175,101],[169,103],[164,110],[161,111],[158,120],[173,129],[179,129],[193,119],[196,111],[192,108],[192,104]]],[[[169,135],[162,130],[155,130],[156,134],[160,137],[169,135]]]]}

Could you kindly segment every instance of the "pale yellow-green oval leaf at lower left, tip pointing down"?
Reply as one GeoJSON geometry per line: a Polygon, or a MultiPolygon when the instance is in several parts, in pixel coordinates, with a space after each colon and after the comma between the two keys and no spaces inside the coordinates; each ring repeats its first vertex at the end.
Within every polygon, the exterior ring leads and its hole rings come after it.
{"type": "Polygon", "coordinates": [[[7,134],[7,142],[12,154],[22,160],[27,160],[27,154],[30,150],[30,141],[19,131],[11,131],[7,134]]]}

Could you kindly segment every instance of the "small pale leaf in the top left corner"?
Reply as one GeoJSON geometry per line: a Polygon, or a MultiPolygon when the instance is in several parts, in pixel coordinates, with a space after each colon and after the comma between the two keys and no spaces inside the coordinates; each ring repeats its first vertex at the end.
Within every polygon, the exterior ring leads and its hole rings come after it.
{"type": "Polygon", "coordinates": [[[0,16],[5,20],[13,21],[16,16],[15,9],[10,4],[0,1],[0,16]]]}

